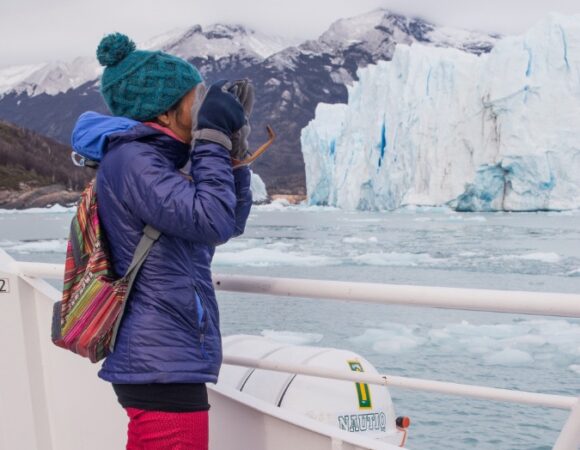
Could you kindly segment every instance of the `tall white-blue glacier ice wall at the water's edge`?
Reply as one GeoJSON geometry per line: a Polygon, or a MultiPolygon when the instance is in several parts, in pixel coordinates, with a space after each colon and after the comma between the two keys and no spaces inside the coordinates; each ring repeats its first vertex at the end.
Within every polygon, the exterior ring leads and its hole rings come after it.
{"type": "Polygon", "coordinates": [[[358,76],[302,130],[310,204],[580,208],[580,15],[480,56],[399,45],[358,76]]]}

